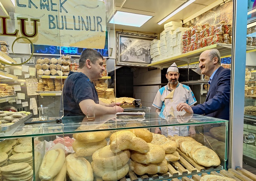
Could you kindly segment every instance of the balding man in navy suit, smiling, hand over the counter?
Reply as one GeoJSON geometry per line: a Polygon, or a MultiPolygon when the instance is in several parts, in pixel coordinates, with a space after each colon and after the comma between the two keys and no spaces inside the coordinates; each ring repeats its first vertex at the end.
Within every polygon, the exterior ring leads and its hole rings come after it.
{"type": "Polygon", "coordinates": [[[230,69],[221,66],[219,51],[206,50],[199,57],[201,74],[210,77],[210,88],[203,104],[190,107],[186,103],[177,105],[177,110],[229,120],[230,69]]]}

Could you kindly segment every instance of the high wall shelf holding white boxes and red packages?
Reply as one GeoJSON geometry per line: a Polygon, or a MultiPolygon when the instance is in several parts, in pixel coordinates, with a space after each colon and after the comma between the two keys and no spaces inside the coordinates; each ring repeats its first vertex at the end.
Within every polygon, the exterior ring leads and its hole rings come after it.
{"type": "MultiPolygon", "coordinates": [[[[232,44],[223,44],[223,43],[216,43],[213,45],[209,45],[207,47],[199,48],[194,51],[189,51],[187,53],[177,55],[174,57],[170,57],[168,59],[160,60],[158,62],[149,63],[148,66],[157,67],[160,69],[168,68],[172,63],[176,63],[177,66],[184,66],[188,63],[198,63],[198,58],[200,54],[205,50],[210,50],[212,48],[215,48],[219,50],[219,53],[221,54],[221,57],[227,57],[231,56],[231,48],[232,44]]],[[[247,46],[247,51],[254,51],[256,47],[253,46],[247,46]]]]}

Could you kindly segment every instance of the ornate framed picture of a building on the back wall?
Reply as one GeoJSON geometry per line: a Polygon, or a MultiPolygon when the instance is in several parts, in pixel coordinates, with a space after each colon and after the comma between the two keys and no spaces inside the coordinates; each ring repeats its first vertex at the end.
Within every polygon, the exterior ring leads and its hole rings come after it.
{"type": "Polygon", "coordinates": [[[116,32],[116,65],[147,67],[151,63],[150,43],[154,35],[116,32]]]}

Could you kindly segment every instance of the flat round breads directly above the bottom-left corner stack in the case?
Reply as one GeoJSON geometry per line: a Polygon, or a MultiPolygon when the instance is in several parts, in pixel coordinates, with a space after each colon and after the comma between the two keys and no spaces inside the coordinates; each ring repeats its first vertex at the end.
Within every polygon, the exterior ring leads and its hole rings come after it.
{"type": "Polygon", "coordinates": [[[28,163],[33,166],[33,155],[29,152],[17,153],[9,157],[9,164],[13,163],[28,163]]]}

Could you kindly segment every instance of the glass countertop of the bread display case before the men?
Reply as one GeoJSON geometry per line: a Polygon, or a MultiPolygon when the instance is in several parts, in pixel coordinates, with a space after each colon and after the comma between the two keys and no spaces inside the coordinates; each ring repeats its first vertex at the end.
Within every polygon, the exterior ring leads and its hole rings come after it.
{"type": "MultiPolygon", "coordinates": [[[[26,136],[29,137],[37,137],[37,136],[47,136],[47,135],[56,135],[56,134],[70,134],[70,133],[82,133],[82,132],[91,132],[91,131],[101,131],[104,129],[105,131],[118,131],[118,130],[125,130],[125,129],[131,129],[131,128],[152,128],[152,127],[163,127],[163,126],[184,126],[184,125],[207,125],[207,124],[224,124],[227,126],[228,122],[227,120],[218,119],[218,118],[211,118],[203,115],[193,115],[189,114],[188,116],[184,116],[182,119],[184,122],[179,123],[178,119],[172,119],[167,121],[164,118],[161,118],[158,113],[145,113],[145,116],[142,116],[140,120],[140,125],[136,127],[126,127],[127,122],[130,120],[137,120],[139,116],[116,116],[116,115],[102,115],[96,117],[93,121],[90,121],[86,118],[86,116],[67,116],[62,118],[62,130],[57,131],[56,133],[50,133],[47,129],[47,127],[54,127],[58,126],[59,124],[56,123],[47,123],[44,125],[46,130],[42,131],[41,124],[30,124],[33,127],[33,130],[31,134],[27,134],[26,136]],[[116,121],[116,120],[119,121],[116,121]],[[77,130],[78,127],[81,126],[81,124],[91,125],[91,127],[88,130],[79,131],[77,130]],[[40,131],[38,131],[40,130],[40,131]]],[[[58,119],[58,118],[56,118],[58,119]]],[[[54,120],[54,118],[52,118],[54,120]]],[[[48,120],[46,120],[48,121],[48,120]]],[[[137,122],[137,121],[135,121],[137,122]]],[[[43,123],[43,122],[42,122],[43,123]]],[[[22,130],[23,126],[15,128],[17,132],[19,130],[22,130]]],[[[19,135],[12,135],[12,134],[6,134],[5,138],[14,138],[18,137],[19,135]]],[[[22,135],[20,135],[22,136],[22,135]]]]}

